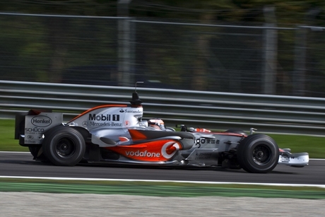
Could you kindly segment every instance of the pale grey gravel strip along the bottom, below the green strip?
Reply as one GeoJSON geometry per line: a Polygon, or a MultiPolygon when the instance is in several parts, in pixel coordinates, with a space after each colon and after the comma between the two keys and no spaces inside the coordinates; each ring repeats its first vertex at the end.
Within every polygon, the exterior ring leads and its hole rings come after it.
{"type": "Polygon", "coordinates": [[[0,216],[324,216],[324,199],[0,192],[0,216]]]}

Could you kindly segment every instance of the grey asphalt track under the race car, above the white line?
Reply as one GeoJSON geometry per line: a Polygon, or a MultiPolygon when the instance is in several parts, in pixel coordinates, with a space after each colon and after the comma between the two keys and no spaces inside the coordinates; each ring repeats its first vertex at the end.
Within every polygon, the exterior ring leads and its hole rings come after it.
{"type": "Polygon", "coordinates": [[[278,184],[325,184],[325,160],[309,160],[304,168],[285,165],[267,174],[223,168],[156,168],[130,165],[80,164],[60,167],[32,160],[30,153],[0,152],[0,176],[67,177],[123,180],[171,180],[199,182],[248,182],[278,184]]]}

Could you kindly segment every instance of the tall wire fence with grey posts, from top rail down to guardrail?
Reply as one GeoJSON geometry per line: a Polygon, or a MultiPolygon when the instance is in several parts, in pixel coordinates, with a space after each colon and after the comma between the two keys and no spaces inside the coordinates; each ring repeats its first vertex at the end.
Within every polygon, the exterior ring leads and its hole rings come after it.
{"type": "Polygon", "coordinates": [[[0,13],[0,79],[324,97],[324,39],[302,25],[0,13]]]}

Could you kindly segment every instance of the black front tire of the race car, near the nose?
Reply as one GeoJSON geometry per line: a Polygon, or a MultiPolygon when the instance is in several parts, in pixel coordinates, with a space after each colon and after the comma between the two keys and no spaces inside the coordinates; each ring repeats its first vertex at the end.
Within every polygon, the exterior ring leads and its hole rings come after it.
{"type": "Polygon", "coordinates": [[[279,148],[270,136],[252,134],[237,146],[237,160],[247,172],[266,173],[276,168],[279,148]]]}

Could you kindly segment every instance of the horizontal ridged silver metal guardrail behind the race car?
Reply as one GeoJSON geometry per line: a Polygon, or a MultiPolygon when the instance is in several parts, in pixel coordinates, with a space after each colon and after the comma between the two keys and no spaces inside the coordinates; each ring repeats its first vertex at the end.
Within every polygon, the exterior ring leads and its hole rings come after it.
{"type": "MultiPolygon", "coordinates": [[[[261,132],[324,135],[325,99],[280,95],[137,88],[143,119],[158,117],[169,127],[254,127],[261,132]]],[[[63,112],[68,121],[97,105],[128,104],[134,88],[0,81],[0,117],[30,109],[63,112]]]]}

